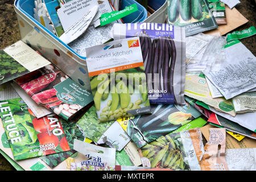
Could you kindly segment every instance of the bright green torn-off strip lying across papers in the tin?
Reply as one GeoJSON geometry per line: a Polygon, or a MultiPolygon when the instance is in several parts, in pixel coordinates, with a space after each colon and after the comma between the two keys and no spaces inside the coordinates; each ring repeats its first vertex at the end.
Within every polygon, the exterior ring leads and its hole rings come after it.
{"type": "Polygon", "coordinates": [[[101,26],[112,23],[115,20],[123,18],[131,13],[134,13],[135,11],[138,11],[138,7],[136,4],[133,4],[130,6],[126,6],[125,9],[121,11],[112,11],[111,13],[104,13],[101,15],[100,18],[101,26]]]}

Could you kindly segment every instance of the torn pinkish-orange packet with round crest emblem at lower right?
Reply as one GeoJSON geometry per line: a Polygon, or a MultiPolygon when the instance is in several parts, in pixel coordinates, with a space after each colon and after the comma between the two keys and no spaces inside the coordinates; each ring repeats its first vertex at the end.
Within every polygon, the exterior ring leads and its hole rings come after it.
{"type": "Polygon", "coordinates": [[[205,144],[200,167],[202,171],[229,171],[225,159],[226,129],[209,129],[210,138],[205,144]]]}

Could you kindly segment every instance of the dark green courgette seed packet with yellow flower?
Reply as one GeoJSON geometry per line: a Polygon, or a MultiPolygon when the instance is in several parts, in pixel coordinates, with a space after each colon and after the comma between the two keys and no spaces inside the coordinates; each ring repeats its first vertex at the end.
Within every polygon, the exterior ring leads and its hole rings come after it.
{"type": "Polygon", "coordinates": [[[139,148],[201,115],[188,103],[184,106],[152,105],[151,109],[152,114],[130,118],[127,125],[127,134],[139,148]]]}

